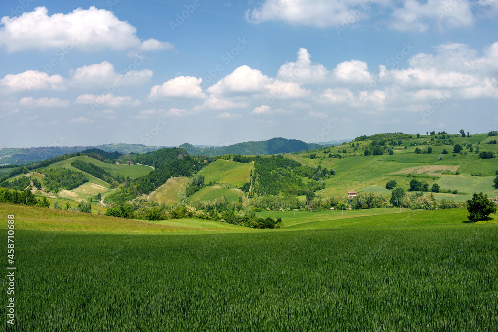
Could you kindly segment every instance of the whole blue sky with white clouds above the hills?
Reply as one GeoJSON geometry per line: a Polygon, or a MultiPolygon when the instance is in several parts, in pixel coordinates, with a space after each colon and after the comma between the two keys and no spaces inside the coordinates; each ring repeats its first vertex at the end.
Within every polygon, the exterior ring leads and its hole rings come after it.
{"type": "Polygon", "coordinates": [[[2,147],[497,130],[497,0],[0,10],[2,147]]]}

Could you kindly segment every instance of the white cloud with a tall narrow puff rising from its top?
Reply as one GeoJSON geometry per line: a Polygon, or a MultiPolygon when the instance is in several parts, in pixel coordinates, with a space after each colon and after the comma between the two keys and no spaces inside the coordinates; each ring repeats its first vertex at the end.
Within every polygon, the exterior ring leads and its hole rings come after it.
{"type": "Polygon", "coordinates": [[[321,64],[312,64],[308,50],[300,48],[296,62],[287,62],[280,66],[277,78],[282,81],[294,81],[302,84],[320,83],[328,79],[329,71],[321,64]]]}

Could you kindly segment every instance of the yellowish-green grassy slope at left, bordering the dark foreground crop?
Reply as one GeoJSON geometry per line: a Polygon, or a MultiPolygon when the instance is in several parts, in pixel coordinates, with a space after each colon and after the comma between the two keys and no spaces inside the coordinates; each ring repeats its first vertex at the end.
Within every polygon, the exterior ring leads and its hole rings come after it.
{"type": "MultiPolygon", "coordinates": [[[[189,231],[250,231],[247,227],[219,221],[176,219],[171,221],[138,221],[96,214],[38,208],[17,204],[0,203],[0,215],[14,214],[16,229],[157,234],[189,231]]],[[[6,224],[6,223],[5,223],[6,224]]],[[[2,226],[3,227],[3,226],[2,226]]]]}

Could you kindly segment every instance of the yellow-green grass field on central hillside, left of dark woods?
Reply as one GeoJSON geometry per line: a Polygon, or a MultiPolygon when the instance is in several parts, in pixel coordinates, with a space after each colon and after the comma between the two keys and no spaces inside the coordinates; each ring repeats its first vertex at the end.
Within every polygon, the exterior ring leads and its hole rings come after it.
{"type": "Polygon", "coordinates": [[[227,184],[242,187],[244,183],[250,181],[250,171],[254,168],[254,163],[238,163],[231,160],[218,159],[197,174],[204,176],[204,182],[227,184]]]}

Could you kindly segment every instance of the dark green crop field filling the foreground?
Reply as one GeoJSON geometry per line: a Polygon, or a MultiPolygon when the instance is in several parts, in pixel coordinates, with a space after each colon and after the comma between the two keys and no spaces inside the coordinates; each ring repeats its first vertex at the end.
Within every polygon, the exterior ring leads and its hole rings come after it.
{"type": "Polygon", "coordinates": [[[497,235],[496,224],[168,236],[18,230],[15,328],[491,331],[497,235]]]}

